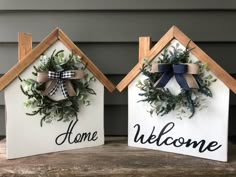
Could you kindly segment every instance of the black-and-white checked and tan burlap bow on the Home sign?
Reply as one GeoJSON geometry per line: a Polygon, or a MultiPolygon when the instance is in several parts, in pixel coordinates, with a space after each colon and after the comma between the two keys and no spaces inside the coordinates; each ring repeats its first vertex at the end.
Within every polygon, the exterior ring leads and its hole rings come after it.
{"type": "Polygon", "coordinates": [[[76,92],[72,86],[71,79],[81,79],[84,77],[83,70],[68,70],[68,71],[48,71],[38,72],[37,81],[40,83],[47,83],[43,95],[54,95],[58,88],[61,88],[62,94],[65,98],[75,96],[76,92]]]}

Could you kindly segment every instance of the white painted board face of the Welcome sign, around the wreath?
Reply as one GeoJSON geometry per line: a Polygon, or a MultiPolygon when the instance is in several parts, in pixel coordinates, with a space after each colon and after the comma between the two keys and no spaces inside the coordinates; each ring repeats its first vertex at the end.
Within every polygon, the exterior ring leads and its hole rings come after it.
{"type": "MultiPolygon", "coordinates": [[[[174,39],[170,45],[175,46],[177,42],[174,39]]],[[[184,49],[181,44],[180,47],[184,49]]],[[[192,54],[190,57],[193,61],[198,60],[192,54]]],[[[136,83],[145,78],[140,73],[128,87],[128,145],[227,161],[228,87],[218,79],[210,87],[213,98],[206,97],[207,108],[196,112],[191,119],[178,119],[173,111],[164,116],[157,116],[155,113],[151,116],[147,112],[150,110],[150,105],[138,102],[143,97],[138,95],[140,90],[136,87],[136,83]]],[[[169,81],[166,88],[172,93],[180,91],[174,78],[169,81]]]]}

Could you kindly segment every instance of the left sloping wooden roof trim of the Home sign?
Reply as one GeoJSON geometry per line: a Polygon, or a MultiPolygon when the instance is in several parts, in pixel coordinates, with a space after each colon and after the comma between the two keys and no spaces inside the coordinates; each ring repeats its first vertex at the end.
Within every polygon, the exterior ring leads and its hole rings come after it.
{"type": "Polygon", "coordinates": [[[58,29],[52,31],[42,42],[40,42],[30,53],[21,59],[13,68],[11,68],[0,79],[0,91],[11,83],[25,68],[37,59],[48,47],[58,39],[58,29]]]}

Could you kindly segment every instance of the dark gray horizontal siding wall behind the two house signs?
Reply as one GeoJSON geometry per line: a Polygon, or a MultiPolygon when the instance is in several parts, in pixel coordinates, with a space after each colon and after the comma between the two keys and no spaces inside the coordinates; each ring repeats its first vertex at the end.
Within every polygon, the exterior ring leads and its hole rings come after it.
{"type": "MultiPolygon", "coordinates": [[[[17,62],[17,33],[36,45],[60,27],[117,84],[137,63],[138,37],[154,43],[178,26],[236,76],[234,0],[0,0],[0,74],[17,62]]],[[[5,134],[0,95],[0,135],[5,134]]],[[[230,96],[229,134],[236,135],[236,95],[230,96]]],[[[17,116],[16,116],[17,118],[17,116]]],[[[127,90],[105,93],[106,135],[127,135],[127,90]]]]}

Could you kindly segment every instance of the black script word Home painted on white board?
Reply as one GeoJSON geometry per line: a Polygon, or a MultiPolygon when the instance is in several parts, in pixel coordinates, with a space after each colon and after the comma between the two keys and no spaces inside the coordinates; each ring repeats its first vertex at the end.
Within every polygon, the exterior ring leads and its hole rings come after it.
{"type": "Polygon", "coordinates": [[[78,119],[76,119],[75,122],[72,120],[67,128],[67,131],[64,133],[61,133],[60,135],[56,137],[55,143],[57,145],[64,144],[66,140],[68,141],[69,144],[73,144],[73,143],[80,143],[83,141],[88,141],[88,142],[96,141],[98,139],[97,131],[93,133],[91,132],[78,133],[73,139],[72,134],[73,134],[73,130],[77,122],[78,122],[78,119]]]}

